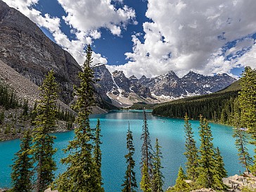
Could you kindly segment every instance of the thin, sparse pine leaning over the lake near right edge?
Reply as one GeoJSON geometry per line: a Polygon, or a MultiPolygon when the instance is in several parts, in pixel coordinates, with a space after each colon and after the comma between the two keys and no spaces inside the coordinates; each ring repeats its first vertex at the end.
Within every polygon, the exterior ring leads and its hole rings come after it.
{"type": "Polygon", "coordinates": [[[246,145],[248,144],[248,137],[245,135],[245,132],[241,130],[240,127],[236,127],[233,133],[233,137],[236,138],[236,148],[238,150],[238,160],[245,167],[246,172],[250,172],[249,167],[252,164],[252,158],[248,153],[248,148],[246,145]]]}

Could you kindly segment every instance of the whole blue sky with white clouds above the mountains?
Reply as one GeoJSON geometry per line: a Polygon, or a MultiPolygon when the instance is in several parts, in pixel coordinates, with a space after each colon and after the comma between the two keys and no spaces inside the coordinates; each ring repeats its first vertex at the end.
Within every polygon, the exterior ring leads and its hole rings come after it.
{"type": "Polygon", "coordinates": [[[153,77],[173,70],[236,76],[256,68],[255,0],[4,0],[84,61],[153,77]]]}

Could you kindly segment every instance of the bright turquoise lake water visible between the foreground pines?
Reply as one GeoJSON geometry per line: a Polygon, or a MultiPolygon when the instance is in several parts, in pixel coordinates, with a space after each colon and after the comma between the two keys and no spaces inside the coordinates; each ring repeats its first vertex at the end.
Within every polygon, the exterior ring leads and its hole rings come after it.
{"type": "MultiPolygon", "coordinates": [[[[186,158],[184,157],[184,120],[172,119],[165,117],[157,117],[146,113],[148,119],[148,129],[151,136],[152,146],[155,146],[155,139],[158,138],[160,146],[162,146],[162,172],[165,176],[165,187],[175,183],[179,166],[184,167],[186,158]]],[[[103,145],[102,150],[102,174],[103,183],[106,192],[121,191],[126,163],[124,155],[127,154],[126,134],[128,122],[134,136],[134,160],[136,161],[136,179],[139,186],[141,174],[139,171],[139,162],[141,159],[140,139],[143,125],[143,113],[141,110],[129,111],[112,111],[101,115],[91,115],[91,127],[96,126],[97,119],[101,120],[101,138],[103,145]]],[[[197,146],[199,146],[198,126],[199,122],[191,120],[197,146]]],[[[234,145],[232,127],[210,123],[212,127],[213,142],[215,147],[224,157],[224,163],[229,175],[239,174],[244,171],[243,167],[238,164],[237,150],[234,145]]],[[[73,139],[74,132],[63,132],[54,134],[57,136],[55,147],[58,152],[55,155],[56,162],[65,156],[60,149],[68,145],[68,141],[73,139]]],[[[0,142],[0,188],[11,186],[11,167],[13,154],[20,149],[20,140],[2,141],[0,142]]],[[[253,146],[248,146],[250,153],[253,155],[253,146]]],[[[63,172],[65,167],[58,163],[56,175],[63,172]]],[[[139,191],[139,190],[138,190],[139,191]]]]}

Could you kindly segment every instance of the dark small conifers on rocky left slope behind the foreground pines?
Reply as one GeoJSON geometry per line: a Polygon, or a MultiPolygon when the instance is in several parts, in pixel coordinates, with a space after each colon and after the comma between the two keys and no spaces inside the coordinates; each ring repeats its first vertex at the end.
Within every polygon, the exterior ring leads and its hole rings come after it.
{"type": "MultiPolygon", "coordinates": [[[[38,103],[28,104],[27,99],[18,98],[15,90],[0,82],[0,141],[20,138],[27,129],[32,129],[39,114],[38,103]]],[[[55,104],[56,118],[63,122],[65,130],[70,130],[75,121],[75,113],[55,104]]]]}

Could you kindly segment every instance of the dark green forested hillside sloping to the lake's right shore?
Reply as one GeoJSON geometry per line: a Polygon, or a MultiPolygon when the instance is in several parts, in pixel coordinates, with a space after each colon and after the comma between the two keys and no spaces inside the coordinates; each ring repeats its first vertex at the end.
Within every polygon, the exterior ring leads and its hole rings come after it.
{"type": "Polygon", "coordinates": [[[183,98],[157,105],[153,109],[153,115],[183,118],[187,113],[188,117],[196,120],[199,119],[199,115],[203,115],[208,120],[232,124],[240,89],[240,80],[238,80],[214,94],[183,98]]]}

